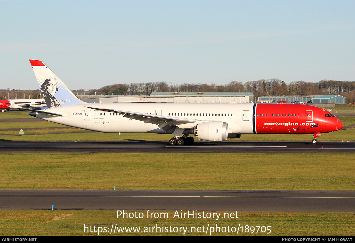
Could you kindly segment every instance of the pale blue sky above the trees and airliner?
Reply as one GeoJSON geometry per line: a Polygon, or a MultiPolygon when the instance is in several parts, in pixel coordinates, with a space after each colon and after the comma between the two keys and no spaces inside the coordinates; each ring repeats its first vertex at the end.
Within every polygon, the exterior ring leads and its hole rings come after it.
{"type": "Polygon", "coordinates": [[[354,81],[355,1],[1,1],[0,89],[354,81]]]}

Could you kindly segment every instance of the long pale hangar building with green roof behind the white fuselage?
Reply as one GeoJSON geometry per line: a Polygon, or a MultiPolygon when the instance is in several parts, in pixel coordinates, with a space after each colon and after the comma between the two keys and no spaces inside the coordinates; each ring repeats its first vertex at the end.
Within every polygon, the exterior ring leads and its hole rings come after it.
{"type": "Polygon", "coordinates": [[[146,95],[77,95],[88,103],[253,103],[254,93],[249,92],[154,92],[146,95]]]}

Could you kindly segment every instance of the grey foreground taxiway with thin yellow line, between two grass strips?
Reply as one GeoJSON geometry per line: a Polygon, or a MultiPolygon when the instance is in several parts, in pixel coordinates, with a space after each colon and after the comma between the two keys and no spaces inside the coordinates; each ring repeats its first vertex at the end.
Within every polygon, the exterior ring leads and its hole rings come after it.
{"type": "Polygon", "coordinates": [[[355,191],[0,190],[0,210],[355,212],[355,191]]]}

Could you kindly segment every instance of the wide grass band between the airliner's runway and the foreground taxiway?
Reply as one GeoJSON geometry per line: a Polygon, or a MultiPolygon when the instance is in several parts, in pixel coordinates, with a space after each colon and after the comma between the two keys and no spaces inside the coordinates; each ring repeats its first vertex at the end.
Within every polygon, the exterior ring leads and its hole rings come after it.
{"type": "Polygon", "coordinates": [[[0,189],[355,190],[354,163],[351,154],[0,154],[0,189]]]}

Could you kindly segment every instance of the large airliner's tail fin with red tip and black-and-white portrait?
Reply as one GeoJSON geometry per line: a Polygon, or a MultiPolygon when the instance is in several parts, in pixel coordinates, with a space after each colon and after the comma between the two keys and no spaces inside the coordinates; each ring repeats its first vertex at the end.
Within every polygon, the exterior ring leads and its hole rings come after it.
{"type": "Polygon", "coordinates": [[[41,61],[29,60],[36,75],[47,107],[86,104],[78,99],[73,92],[41,61]]]}

